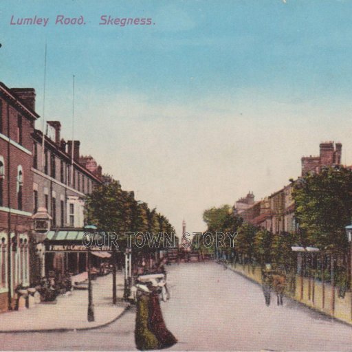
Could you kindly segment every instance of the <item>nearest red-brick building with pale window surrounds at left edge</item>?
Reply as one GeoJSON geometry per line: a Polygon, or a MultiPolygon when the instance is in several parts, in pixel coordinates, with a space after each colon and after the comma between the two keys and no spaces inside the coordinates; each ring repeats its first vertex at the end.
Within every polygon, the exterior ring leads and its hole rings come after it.
{"type": "Polygon", "coordinates": [[[0,83],[0,311],[12,309],[17,285],[30,284],[35,96],[0,83]]]}

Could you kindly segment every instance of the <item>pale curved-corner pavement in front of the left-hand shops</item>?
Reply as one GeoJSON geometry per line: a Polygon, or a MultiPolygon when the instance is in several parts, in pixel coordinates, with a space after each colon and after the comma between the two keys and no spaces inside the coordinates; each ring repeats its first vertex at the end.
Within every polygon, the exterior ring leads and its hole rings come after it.
{"type": "MultiPolygon", "coordinates": [[[[38,303],[30,309],[0,314],[0,333],[35,331],[78,331],[107,325],[124,313],[124,276],[117,275],[118,303],[112,303],[112,275],[100,276],[91,281],[94,322],[87,321],[88,290],[76,290],[70,295],[60,295],[54,303],[38,303]]],[[[1,338],[1,337],[0,337],[1,338]]]]}

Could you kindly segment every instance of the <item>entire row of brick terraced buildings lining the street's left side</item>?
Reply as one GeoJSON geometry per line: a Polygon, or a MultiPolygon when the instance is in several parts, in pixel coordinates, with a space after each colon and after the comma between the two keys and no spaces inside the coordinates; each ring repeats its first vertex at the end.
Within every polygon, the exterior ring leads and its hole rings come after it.
{"type": "Polygon", "coordinates": [[[84,198],[102,183],[102,168],[80,156],[80,142],[61,138],[61,123],[35,129],[33,88],[0,83],[0,311],[16,306],[17,288],[33,287],[49,272],[86,270],[86,253],[45,252],[34,215],[51,219],[47,241],[66,239],[84,225],[84,198]]]}

